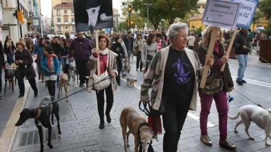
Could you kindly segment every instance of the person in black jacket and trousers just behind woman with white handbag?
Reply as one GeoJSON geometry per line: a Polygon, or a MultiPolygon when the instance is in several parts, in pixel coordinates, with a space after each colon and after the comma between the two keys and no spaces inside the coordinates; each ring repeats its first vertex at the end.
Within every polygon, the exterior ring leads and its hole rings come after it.
{"type": "MultiPolygon", "coordinates": [[[[120,73],[121,70],[122,70],[122,62],[121,62],[121,59],[124,55],[124,50],[123,50],[123,47],[121,46],[121,37],[119,36],[116,36],[114,38],[114,42],[112,43],[111,45],[111,50],[115,53],[118,54],[118,57],[117,57],[117,66],[118,66],[118,72],[120,73]]],[[[120,74],[116,77],[116,81],[118,83],[118,85],[120,85],[120,74]]]]}

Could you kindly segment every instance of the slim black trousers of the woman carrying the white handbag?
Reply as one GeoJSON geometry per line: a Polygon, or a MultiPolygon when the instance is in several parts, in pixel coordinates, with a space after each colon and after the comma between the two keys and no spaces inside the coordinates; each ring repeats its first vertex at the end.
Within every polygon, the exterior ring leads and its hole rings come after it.
{"type": "Polygon", "coordinates": [[[110,111],[112,109],[113,102],[114,102],[111,84],[103,90],[99,90],[99,91],[96,90],[96,97],[97,97],[97,103],[98,103],[98,113],[99,113],[100,120],[104,119],[104,90],[105,90],[105,94],[106,94],[105,115],[110,114],[110,111]]]}

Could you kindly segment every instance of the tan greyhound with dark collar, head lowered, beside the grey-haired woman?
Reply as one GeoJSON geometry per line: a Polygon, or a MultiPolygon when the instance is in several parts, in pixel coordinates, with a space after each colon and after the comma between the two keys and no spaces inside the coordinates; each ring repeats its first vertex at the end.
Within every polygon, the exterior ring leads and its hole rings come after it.
{"type": "Polygon", "coordinates": [[[146,120],[132,107],[126,107],[121,112],[119,122],[122,128],[125,152],[127,152],[127,147],[129,147],[129,135],[131,133],[135,137],[135,152],[138,152],[140,143],[142,152],[147,152],[149,144],[154,137],[154,131],[148,126],[146,120]],[[127,126],[129,128],[128,132],[127,126]]]}

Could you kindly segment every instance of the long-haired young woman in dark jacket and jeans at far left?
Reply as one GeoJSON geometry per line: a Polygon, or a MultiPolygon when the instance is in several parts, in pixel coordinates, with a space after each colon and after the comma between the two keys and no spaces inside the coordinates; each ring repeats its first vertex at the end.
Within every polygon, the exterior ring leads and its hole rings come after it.
{"type": "Polygon", "coordinates": [[[15,51],[16,51],[16,48],[14,46],[14,43],[13,43],[13,41],[11,41],[10,36],[7,35],[5,43],[4,43],[4,53],[6,54],[8,64],[14,63],[14,52],[15,51]]]}

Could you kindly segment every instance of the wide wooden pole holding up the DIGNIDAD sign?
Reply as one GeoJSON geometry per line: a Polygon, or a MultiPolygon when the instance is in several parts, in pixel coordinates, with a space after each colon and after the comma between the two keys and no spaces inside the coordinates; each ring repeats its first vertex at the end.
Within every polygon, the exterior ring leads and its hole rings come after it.
{"type": "MultiPolygon", "coordinates": [[[[215,42],[216,42],[216,34],[218,31],[219,31],[218,27],[213,27],[206,59],[211,57],[213,54],[213,50],[214,50],[214,46],[215,46],[215,42]]],[[[200,88],[205,88],[206,78],[208,75],[208,71],[210,69],[209,65],[206,65],[207,62],[208,62],[208,60],[205,60],[205,65],[204,65],[204,69],[203,69],[203,73],[202,73],[202,77],[201,77],[201,81],[200,81],[200,88]]]]}

